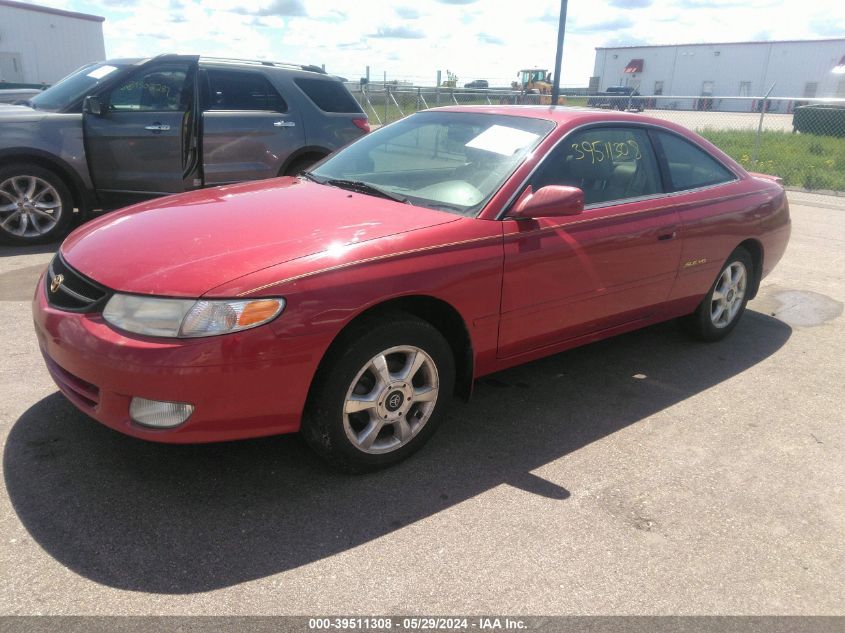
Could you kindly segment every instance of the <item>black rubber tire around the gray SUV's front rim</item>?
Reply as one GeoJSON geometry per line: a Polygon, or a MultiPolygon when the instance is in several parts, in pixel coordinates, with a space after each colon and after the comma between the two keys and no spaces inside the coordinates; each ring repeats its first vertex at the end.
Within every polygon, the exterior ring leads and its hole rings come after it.
{"type": "Polygon", "coordinates": [[[73,196],[71,196],[70,190],[64,181],[54,172],[30,163],[20,163],[0,168],[0,242],[16,245],[54,242],[68,233],[72,222],[73,196]],[[26,225],[24,225],[22,219],[11,219],[11,222],[9,222],[12,215],[21,218],[20,207],[12,208],[5,212],[2,211],[4,207],[15,203],[9,197],[9,194],[14,192],[13,179],[19,183],[20,181],[17,179],[34,180],[38,185],[36,192],[47,192],[42,195],[41,200],[49,201],[46,204],[55,203],[58,205],[49,210],[42,209],[44,213],[49,213],[57,217],[57,220],[49,229],[44,232],[39,231],[38,227],[44,226],[44,217],[38,216],[34,210],[29,210],[32,207],[24,207],[24,212],[27,213],[26,225]],[[44,185],[52,188],[52,191],[44,187],[44,185]],[[6,195],[3,194],[4,191],[6,195]],[[34,220],[29,219],[33,217],[35,218],[34,220]],[[4,226],[4,222],[8,222],[8,226],[4,226]],[[30,224],[30,222],[33,224],[30,224]],[[18,232],[21,234],[16,234],[18,232]]]}

